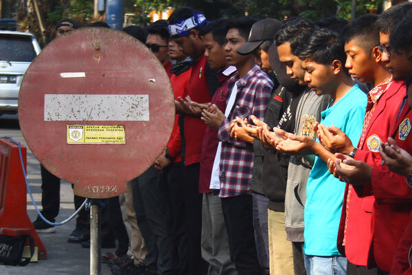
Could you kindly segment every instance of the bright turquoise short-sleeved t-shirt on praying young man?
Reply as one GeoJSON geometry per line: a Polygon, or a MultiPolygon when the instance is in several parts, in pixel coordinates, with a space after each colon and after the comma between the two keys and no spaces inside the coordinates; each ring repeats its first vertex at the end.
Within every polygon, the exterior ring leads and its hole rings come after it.
{"type": "MultiPolygon", "coordinates": [[[[367,96],[354,85],[334,105],[321,112],[321,124],[334,125],[358,144],[367,96]]],[[[329,173],[328,165],[315,157],[306,186],[304,253],[312,256],[339,255],[336,248],[345,183],[329,173]]]]}

